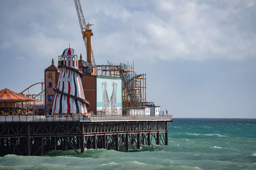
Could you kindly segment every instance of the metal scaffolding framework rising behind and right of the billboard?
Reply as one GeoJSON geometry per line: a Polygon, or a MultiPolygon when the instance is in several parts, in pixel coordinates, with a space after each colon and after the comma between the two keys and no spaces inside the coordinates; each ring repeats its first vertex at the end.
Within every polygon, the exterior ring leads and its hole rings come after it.
{"type": "Polygon", "coordinates": [[[122,78],[123,110],[129,108],[142,108],[147,104],[146,74],[134,72],[134,63],[120,63],[118,65],[108,62],[106,65],[96,66],[97,76],[122,78]]]}

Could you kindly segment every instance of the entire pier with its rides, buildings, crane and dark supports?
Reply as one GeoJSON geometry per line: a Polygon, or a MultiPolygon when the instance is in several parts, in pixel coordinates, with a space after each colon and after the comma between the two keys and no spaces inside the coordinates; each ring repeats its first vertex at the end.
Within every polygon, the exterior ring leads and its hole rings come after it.
{"type": "MultiPolygon", "coordinates": [[[[86,61],[66,48],[44,71],[43,108],[31,109],[38,95],[0,90],[0,156],[44,155],[49,150],[84,152],[104,148],[129,152],[141,146],[168,145],[172,115],[147,101],[146,74],[134,64],[96,65],[79,0],[74,0],[86,61]],[[30,103],[30,110],[28,110],[30,103]],[[24,108],[25,107],[25,108],[24,108]],[[16,109],[16,110],[15,110],[16,109]]],[[[157,90],[157,89],[156,89],[157,90]]]]}

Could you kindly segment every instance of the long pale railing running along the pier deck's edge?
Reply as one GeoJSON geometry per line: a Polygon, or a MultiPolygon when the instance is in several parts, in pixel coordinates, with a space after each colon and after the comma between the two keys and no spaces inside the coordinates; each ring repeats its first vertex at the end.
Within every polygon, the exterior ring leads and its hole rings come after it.
{"type": "Polygon", "coordinates": [[[54,116],[0,116],[0,122],[125,122],[125,121],[172,121],[172,115],[54,115],[54,116]]]}

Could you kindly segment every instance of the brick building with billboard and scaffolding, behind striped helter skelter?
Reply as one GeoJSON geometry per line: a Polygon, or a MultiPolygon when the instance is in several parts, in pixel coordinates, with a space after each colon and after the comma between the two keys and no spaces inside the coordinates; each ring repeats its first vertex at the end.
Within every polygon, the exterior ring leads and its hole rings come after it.
{"type": "MultiPolygon", "coordinates": [[[[58,67],[45,69],[45,111],[52,111],[54,91],[60,75],[61,59],[58,67]]],[[[86,101],[90,103],[88,112],[95,115],[159,115],[159,106],[147,102],[146,74],[137,74],[134,64],[122,63],[93,66],[80,55],[78,69],[83,73],[81,83],[86,101]]]]}

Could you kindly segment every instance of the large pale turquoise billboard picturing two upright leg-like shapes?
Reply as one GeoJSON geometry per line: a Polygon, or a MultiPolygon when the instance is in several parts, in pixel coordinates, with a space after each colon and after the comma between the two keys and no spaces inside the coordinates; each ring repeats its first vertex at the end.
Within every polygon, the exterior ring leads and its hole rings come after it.
{"type": "Polygon", "coordinates": [[[122,78],[97,76],[97,114],[122,114],[122,78]]]}

